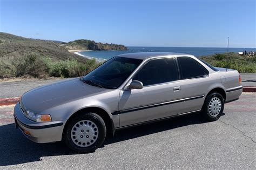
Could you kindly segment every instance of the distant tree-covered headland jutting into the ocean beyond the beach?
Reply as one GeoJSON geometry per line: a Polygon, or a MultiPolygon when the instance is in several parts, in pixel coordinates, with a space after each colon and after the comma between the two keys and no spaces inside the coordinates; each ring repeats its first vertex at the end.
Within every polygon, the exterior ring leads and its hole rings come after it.
{"type": "Polygon", "coordinates": [[[64,45],[68,50],[127,50],[124,45],[96,43],[93,40],[78,39],[64,45]]]}

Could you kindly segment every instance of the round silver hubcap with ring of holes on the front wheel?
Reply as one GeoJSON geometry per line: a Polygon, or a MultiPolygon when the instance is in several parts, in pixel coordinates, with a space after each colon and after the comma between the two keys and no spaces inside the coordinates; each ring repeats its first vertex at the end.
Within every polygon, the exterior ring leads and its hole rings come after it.
{"type": "Polygon", "coordinates": [[[71,139],[77,146],[88,147],[96,142],[99,131],[95,123],[90,120],[78,121],[71,130],[71,139]]]}

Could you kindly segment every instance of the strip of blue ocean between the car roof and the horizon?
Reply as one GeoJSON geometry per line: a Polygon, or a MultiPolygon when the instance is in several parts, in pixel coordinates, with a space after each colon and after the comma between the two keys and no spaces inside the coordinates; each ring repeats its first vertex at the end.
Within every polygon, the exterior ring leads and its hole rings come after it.
{"type": "MultiPolygon", "coordinates": [[[[255,51],[253,48],[229,48],[229,52],[241,52],[241,51],[255,51]]],[[[208,56],[214,53],[227,52],[227,48],[219,47],[149,47],[149,46],[129,46],[125,51],[82,51],[77,54],[88,57],[96,58],[96,60],[103,61],[108,60],[114,56],[122,55],[124,53],[132,52],[180,52],[194,55],[196,57],[208,56]]]]}

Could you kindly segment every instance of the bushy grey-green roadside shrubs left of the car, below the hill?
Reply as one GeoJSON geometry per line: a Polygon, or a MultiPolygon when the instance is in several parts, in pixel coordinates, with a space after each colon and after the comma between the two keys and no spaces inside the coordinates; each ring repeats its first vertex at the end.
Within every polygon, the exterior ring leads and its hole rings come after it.
{"type": "Polygon", "coordinates": [[[84,76],[100,64],[95,59],[81,63],[75,59],[53,60],[49,57],[41,57],[37,53],[29,53],[23,56],[0,58],[0,78],[79,77],[84,76]]]}

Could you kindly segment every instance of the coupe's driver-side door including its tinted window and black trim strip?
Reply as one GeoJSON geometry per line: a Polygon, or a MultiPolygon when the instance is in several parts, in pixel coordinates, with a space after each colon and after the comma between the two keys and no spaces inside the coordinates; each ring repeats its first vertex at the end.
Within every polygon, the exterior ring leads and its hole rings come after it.
{"type": "Polygon", "coordinates": [[[183,98],[179,87],[177,64],[173,58],[152,59],[140,69],[133,80],[143,89],[122,90],[119,98],[120,127],[170,117],[182,113],[183,98]]]}

